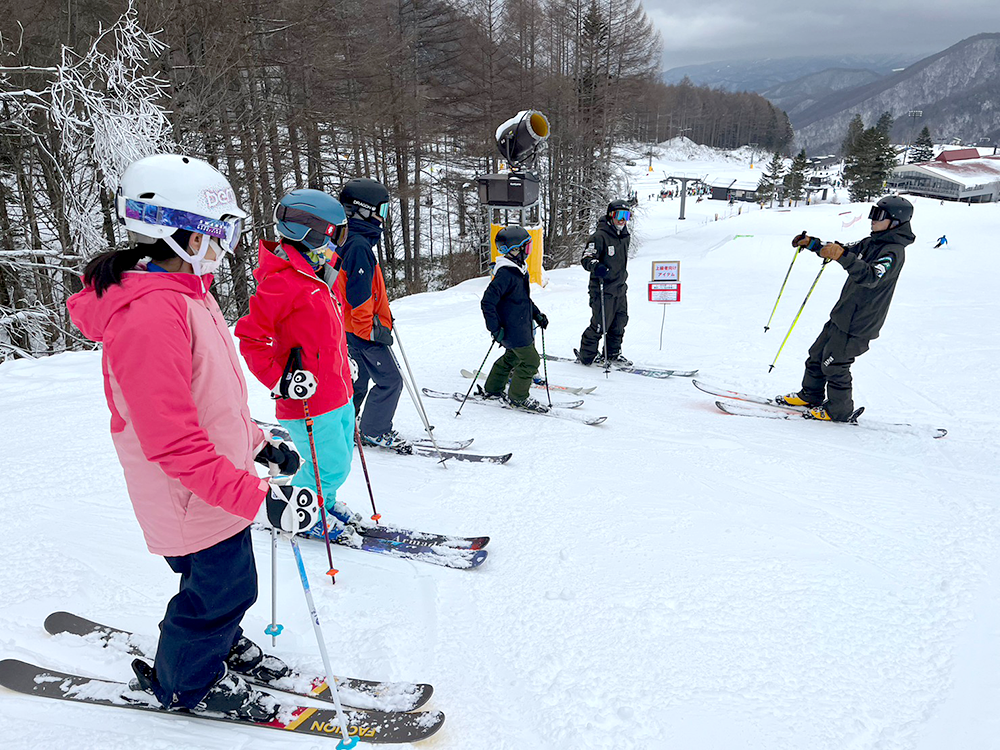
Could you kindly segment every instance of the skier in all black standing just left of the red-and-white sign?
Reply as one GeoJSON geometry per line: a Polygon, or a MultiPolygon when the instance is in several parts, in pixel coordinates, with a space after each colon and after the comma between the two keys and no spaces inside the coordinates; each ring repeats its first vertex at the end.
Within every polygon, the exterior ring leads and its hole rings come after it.
{"type": "Polygon", "coordinates": [[[613,364],[630,366],[622,356],[622,339],[628,323],[628,248],[631,235],[628,221],[632,211],[625,201],[612,201],[607,213],[597,220],[597,229],[583,249],[580,264],[590,271],[590,325],[580,338],[576,350],[580,364],[591,365],[597,359],[597,349],[607,327],[608,357],[613,364]],[[603,293],[603,304],[602,304],[603,293]]]}

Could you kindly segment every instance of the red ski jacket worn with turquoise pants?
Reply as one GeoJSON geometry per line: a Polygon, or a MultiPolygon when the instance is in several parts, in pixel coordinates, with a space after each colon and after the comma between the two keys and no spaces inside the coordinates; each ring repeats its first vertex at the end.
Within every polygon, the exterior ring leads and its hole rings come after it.
{"type": "MultiPolygon", "coordinates": [[[[257,291],[250,298],[250,313],[236,323],[240,353],[250,372],[273,389],[278,384],[291,350],[302,347],[302,366],[317,382],[309,399],[310,416],[344,406],[354,395],[347,361],[343,300],[316,276],[306,259],[284,246],[288,260],[274,254],[277,242],[260,241],[260,263],[254,278],[257,291]]],[[[301,401],[279,400],[278,419],[303,419],[301,401]]]]}

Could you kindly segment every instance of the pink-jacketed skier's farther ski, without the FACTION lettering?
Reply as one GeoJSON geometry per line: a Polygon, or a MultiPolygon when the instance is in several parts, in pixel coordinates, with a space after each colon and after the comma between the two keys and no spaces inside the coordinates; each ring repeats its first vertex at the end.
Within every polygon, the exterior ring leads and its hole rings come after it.
{"type": "MultiPolygon", "coordinates": [[[[121,651],[130,656],[152,660],[156,655],[156,638],[136,635],[109,625],[88,620],[72,612],[53,612],[45,618],[45,630],[51,635],[70,634],[103,648],[121,651]]],[[[332,702],[330,688],[323,677],[306,675],[295,670],[288,677],[273,682],[255,680],[244,675],[247,682],[270,690],[332,702]]],[[[375,682],[352,677],[337,677],[340,702],[352,708],[382,712],[413,711],[431,699],[434,688],[409,682],[375,682]]]]}

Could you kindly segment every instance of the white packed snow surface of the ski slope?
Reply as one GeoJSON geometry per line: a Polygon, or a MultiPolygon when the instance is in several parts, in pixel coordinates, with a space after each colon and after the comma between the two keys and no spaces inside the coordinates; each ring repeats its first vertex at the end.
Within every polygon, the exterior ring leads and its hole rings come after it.
{"type": "MultiPolygon", "coordinates": [[[[676,199],[648,196],[664,173],[712,165],[676,151],[654,159],[652,173],[646,160],[630,168],[641,203],[624,353],[699,368],[700,379],[737,390],[796,390],[846,275],[827,268],[769,374],[820,267],[798,256],[764,333],[789,240],[802,230],[860,239],[868,206],[689,199],[678,221],[676,199]],[[681,262],[679,304],[646,301],[658,260],[681,262]]],[[[712,171],[733,168],[717,157],[712,171]]],[[[549,363],[549,378],[597,385],[579,412],[607,415],[605,424],[475,404],[455,418],[455,402],[427,399],[442,439],[474,437],[470,450],[514,457],[442,468],[368,450],[378,510],[400,526],[487,534],[489,559],[460,571],[336,548],[330,586],[322,545],[305,543],[334,668],[433,683],[428,707],[448,718],[421,746],[437,750],[1000,746],[1000,206],[915,204],[917,241],[882,336],[853,368],[855,400],[865,417],[945,427],[947,438],[727,416],[688,380],[566,363],[549,363]],[[932,249],[945,233],[949,244],[932,249]]],[[[578,345],[586,282],[576,266],[533,287],[551,321],[548,352],[578,345]]],[[[490,346],[486,284],[393,303],[419,386],[468,388],[459,370],[490,346]]],[[[266,389],[248,381],[254,413],[273,418],[266,389]]],[[[132,514],[100,354],[0,366],[0,422],[0,657],[126,679],[120,652],[42,629],[49,612],[67,609],[154,634],[177,587],[132,514]]],[[[396,427],[422,431],[405,394],[396,427]]],[[[357,459],[339,498],[370,515],[357,459]]],[[[260,598],[244,625],[270,648],[269,538],[255,547],[260,598]]],[[[277,562],[285,631],[274,651],[319,669],[291,551],[277,562]]],[[[333,747],[2,689],[0,736],[18,749],[333,747]]]]}

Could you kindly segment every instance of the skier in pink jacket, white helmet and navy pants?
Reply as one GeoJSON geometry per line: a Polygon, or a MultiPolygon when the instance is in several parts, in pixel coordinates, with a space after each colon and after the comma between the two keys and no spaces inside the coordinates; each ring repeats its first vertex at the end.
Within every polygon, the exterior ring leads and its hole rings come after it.
{"type": "Polygon", "coordinates": [[[181,576],[155,666],[136,659],[130,686],[165,708],[266,722],[278,704],[241,675],[287,667],[240,628],[257,599],[250,522],[265,503],[272,524],[299,532],[318,503],[309,489],[257,476],[255,457],[288,473],[298,456],[250,419],[236,347],[209,293],[246,213],[214,167],[173,154],[125,170],[115,213],[130,246],[91,260],[67,306],[104,344],[111,437],[146,545],[181,576]]]}

